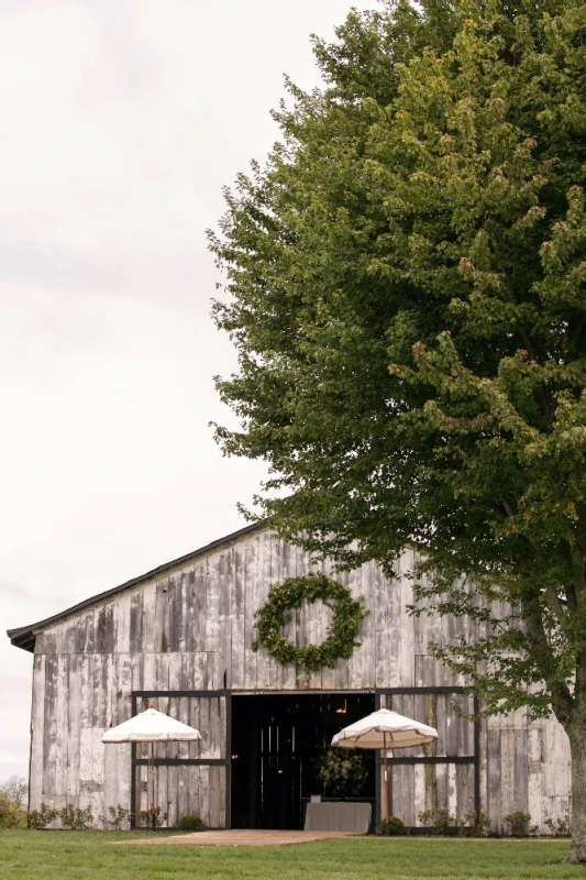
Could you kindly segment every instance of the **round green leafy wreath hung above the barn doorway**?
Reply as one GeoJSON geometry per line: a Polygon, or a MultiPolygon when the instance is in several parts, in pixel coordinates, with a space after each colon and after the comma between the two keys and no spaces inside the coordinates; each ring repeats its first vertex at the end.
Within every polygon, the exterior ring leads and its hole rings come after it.
{"type": "Polygon", "coordinates": [[[355,647],[361,623],[368,612],[364,597],[352,598],[350,590],[324,574],[306,574],[303,578],[289,578],[283,584],[274,584],[268,591],[265,604],[258,608],[256,618],[256,640],[253,651],[266,648],[268,653],[283,666],[291,663],[310,672],[322,667],[333,667],[339,659],[346,659],[355,647]],[[320,645],[297,648],[281,635],[285,624],[292,617],[292,610],[302,601],[313,603],[321,600],[333,609],[334,616],[327,638],[320,645]]]}

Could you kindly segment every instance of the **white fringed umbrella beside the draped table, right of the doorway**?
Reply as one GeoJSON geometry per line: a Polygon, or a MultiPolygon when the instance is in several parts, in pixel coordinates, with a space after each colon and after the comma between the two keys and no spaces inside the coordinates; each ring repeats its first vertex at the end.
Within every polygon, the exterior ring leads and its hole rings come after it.
{"type": "Polygon", "coordinates": [[[407,718],[398,712],[379,708],[360,722],[350,724],[332,739],[332,746],[344,749],[383,749],[385,763],[385,815],[388,818],[387,750],[424,746],[438,739],[438,730],[407,718]]]}

